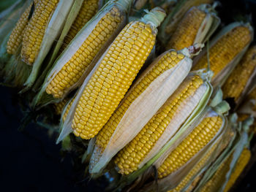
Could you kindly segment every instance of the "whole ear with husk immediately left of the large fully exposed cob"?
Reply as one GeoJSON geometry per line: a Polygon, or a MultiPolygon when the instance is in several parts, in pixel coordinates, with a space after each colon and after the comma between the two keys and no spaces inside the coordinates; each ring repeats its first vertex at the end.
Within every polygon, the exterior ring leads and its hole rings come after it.
{"type": "Polygon", "coordinates": [[[63,99],[83,83],[101,53],[124,27],[130,3],[131,0],[109,1],[86,23],[56,60],[34,101],[35,104],[49,102],[43,101],[43,98],[41,101],[43,95],[52,101],[63,99]]]}

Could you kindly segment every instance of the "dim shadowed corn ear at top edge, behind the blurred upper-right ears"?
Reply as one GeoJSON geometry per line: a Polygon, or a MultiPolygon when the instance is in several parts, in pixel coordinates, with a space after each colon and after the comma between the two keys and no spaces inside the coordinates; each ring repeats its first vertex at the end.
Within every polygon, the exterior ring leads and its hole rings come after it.
{"type": "Polygon", "coordinates": [[[176,6],[172,9],[169,15],[163,21],[159,30],[159,39],[165,45],[167,40],[176,31],[178,24],[184,17],[186,12],[192,7],[199,6],[200,4],[211,4],[211,0],[182,0],[178,1],[176,6]]]}

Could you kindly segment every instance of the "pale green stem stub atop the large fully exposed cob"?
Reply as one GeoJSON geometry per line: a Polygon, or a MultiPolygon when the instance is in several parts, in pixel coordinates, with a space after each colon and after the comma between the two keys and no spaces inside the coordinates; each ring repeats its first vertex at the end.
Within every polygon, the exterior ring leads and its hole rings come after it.
{"type": "Polygon", "coordinates": [[[151,23],[151,25],[157,28],[164,20],[166,13],[161,7],[154,7],[151,11],[147,11],[147,14],[141,19],[145,23],[151,23]]]}

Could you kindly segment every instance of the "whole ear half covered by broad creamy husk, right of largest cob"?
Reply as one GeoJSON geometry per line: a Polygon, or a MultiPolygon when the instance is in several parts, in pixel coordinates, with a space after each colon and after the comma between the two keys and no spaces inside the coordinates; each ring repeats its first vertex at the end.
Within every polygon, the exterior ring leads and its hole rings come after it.
{"type": "MultiPolygon", "coordinates": [[[[190,48],[195,51],[195,47],[190,48]]],[[[159,107],[178,88],[191,69],[192,60],[189,57],[187,48],[180,52],[168,50],[159,55],[141,74],[108,123],[99,131],[90,163],[91,172],[99,158],[106,159],[104,155],[101,157],[103,152],[110,153],[108,152],[111,150],[110,146],[118,146],[108,157],[108,159],[112,158],[139,133],[159,107]],[[129,130],[131,127],[134,131],[129,130]],[[125,137],[120,137],[120,134],[123,136],[125,134],[125,137]]]]}

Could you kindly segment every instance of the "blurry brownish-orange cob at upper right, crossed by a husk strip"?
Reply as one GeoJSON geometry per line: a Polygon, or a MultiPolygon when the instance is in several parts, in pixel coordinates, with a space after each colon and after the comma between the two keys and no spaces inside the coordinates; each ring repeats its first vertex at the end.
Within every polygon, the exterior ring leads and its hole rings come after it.
{"type": "MultiPolygon", "coordinates": [[[[241,52],[251,41],[251,32],[248,27],[237,26],[222,36],[209,50],[211,71],[215,77],[222,69],[241,52]]],[[[207,54],[192,67],[192,70],[204,69],[208,66],[207,54]]]]}

